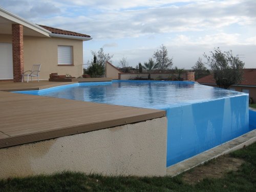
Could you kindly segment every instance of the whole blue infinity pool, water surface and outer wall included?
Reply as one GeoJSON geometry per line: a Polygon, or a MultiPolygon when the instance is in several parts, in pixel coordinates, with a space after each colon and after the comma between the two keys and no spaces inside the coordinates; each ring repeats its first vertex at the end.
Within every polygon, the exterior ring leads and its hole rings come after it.
{"type": "Polygon", "coordinates": [[[116,80],[17,93],[166,110],[167,166],[250,131],[248,94],[194,82],[116,80]]]}

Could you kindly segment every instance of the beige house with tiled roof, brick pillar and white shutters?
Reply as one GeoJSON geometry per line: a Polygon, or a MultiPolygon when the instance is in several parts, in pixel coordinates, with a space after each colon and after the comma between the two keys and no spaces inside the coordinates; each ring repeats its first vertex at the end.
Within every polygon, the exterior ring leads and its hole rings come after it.
{"type": "Polygon", "coordinates": [[[22,81],[22,73],[40,63],[40,79],[49,74],[83,72],[83,41],[90,35],[36,25],[0,7],[0,80],[22,81]]]}

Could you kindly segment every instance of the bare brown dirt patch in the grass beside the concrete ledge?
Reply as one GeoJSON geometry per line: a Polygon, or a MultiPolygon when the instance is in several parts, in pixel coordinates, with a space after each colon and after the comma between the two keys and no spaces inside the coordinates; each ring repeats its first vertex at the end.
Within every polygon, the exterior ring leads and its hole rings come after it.
{"type": "Polygon", "coordinates": [[[188,170],[182,179],[188,184],[196,184],[204,178],[221,178],[231,170],[236,172],[244,162],[242,159],[233,158],[229,155],[220,156],[217,159],[188,170]]]}

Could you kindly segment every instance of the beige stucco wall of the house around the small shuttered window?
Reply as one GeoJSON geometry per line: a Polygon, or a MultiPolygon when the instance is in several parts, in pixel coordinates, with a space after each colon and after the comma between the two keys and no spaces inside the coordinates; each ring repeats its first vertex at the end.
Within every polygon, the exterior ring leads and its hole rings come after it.
{"type": "MultiPolygon", "coordinates": [[[[0,35],[0,42],[12,42],[11,35],[0,35]]],[[[82,75],[83,41],[58,37],[24,36],[24,71],[41,63],[40,79],[49,79],[50,73],[82,75]],[[74,66],[58,66],[58,45],[73,46],[74,66]]],[[[36,78],[35,78],[36,79],[36,78]]]]}

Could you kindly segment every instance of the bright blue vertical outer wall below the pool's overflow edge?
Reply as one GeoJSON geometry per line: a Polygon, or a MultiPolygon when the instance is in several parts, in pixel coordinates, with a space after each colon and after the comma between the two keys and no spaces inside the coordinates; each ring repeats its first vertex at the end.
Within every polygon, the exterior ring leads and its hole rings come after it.
{"type": "Polygon", "coordinates": [[[247,103],[243,95],[165,109],[167,166],[247,133],[247,103]]]}

